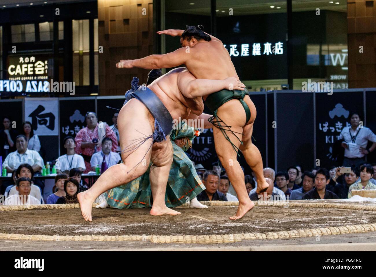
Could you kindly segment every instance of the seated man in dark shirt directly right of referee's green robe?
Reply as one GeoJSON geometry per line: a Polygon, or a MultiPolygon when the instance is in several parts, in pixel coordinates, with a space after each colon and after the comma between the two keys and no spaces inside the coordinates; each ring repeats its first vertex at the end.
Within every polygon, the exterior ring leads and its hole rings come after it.
{"type": "Polygon", "coordinates": [[[205,190],[201,191],[199,195],[197,195],[197,200],[199,201],[214,201],[214,200],[221,200],[227,201],[226,196],[220,191],[217,191],[218,184],[219,184],[220,176],[214,170],[205,171],[202,177],[202,183],[205,186],[205,190]]]}

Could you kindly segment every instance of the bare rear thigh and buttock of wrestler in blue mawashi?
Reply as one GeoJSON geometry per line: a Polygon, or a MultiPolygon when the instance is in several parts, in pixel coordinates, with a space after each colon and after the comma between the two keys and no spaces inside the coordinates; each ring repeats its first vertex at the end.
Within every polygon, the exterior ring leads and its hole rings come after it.
{"type": "Polygon", "coordinates": [[[153,134],[154,124],[149,110],[137,99],[130,99],[118,115],[121,159],[126,164],[137,164],[146,159],[149,165],[153,138],[145,141],[153,134]]]}

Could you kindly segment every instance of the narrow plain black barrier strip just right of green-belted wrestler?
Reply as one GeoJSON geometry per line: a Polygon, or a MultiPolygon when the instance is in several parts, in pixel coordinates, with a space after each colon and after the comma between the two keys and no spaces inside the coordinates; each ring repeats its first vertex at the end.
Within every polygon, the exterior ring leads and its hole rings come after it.
{"type": "MultiPolygon", "coordinates": [[[[256,107],[257,108],[257,107],[256,107]]],[[[264,167],[271,167],[276,168],[276,164],[274,162],[274,128],[273,128],[273,121],[274,121],[274,92],[269,92],[267,94],[267,108],[268,108],[268,118],[267,118],[267,138],[268,138],[268,162],[264,164],[264,167]]]]}

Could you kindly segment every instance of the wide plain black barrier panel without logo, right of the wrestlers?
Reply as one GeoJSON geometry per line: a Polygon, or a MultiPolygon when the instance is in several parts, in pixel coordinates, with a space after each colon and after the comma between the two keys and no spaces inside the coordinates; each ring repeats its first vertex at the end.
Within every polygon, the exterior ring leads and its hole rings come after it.
{"type": "Polygon", "coordinates": [[[314,165],[312,93],[277,93],[277,168],[314,165]]]}

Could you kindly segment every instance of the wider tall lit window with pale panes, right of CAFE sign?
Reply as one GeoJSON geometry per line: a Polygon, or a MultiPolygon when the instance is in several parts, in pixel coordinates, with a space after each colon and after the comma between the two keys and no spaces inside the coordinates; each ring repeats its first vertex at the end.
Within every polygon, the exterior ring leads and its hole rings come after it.
{"type": "Polygon", "coordinates": [[[72,20],[73,81],[89,86],[89,20],[72,20]]]}

